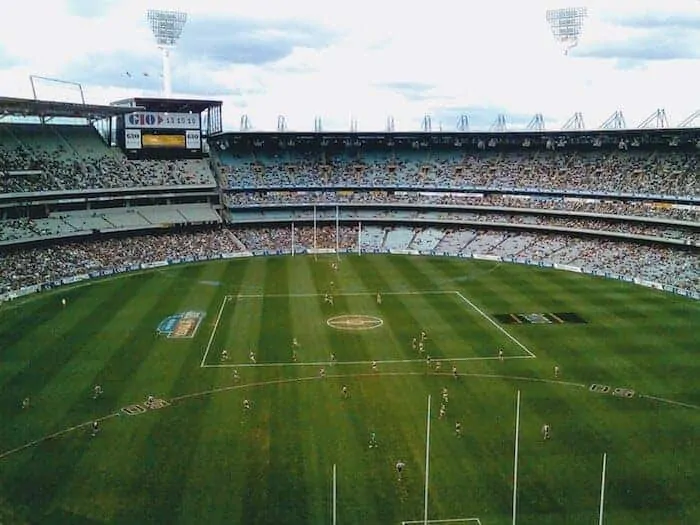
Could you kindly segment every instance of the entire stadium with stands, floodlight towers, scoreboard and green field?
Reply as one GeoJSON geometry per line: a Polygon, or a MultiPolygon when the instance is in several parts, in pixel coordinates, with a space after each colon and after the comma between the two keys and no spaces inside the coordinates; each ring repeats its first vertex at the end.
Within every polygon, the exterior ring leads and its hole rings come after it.
{"type": "Polygon", "coordinates": [[[225,131],[168,59],[0,97],[0,524],[700,522],[693,118],[225,131]]]}

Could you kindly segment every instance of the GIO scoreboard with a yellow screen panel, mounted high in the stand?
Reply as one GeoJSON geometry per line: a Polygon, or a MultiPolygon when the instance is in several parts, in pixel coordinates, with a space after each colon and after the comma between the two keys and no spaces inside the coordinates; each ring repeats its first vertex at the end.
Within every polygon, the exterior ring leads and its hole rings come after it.
{"type": "Polygon", "coordinates": [[[201,118],[197,113],[136,111],[123,117],[119,145],[130,156],[175,157],[202,153],[201,118]]]}

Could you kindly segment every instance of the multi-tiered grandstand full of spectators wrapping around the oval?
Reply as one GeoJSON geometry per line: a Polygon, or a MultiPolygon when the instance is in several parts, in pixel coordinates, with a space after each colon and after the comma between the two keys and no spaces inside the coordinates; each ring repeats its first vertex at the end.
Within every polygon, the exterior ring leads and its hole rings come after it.
{"type": "MultiPolygon", "coordinates": [[[[284,253],[294,222],[295,253],[337,243],[359,252],[488,256],[700,289],[696,130],[677,130],[671,141],[655,130],[502,133],[495,141],[479,133],[285,133],[284,141],[233,133],[212,135],[209,155],[149,159],[93,125],[98,117],[126,122],[143,109],[124,102],[81,113],[86,108],[25,101],[23,116],[68,112],[82,120],[0,125],[0,245],[49,250],[38,275],[70,267],[56,258],[55,243],[125,232],[150,243],[156,232],[207,225],[234,239],[227,252],[284,253]]],[[[21,249],[11,254],[6,268],[22,258],[21,249]]],[[[41,284],[5,274],[2,289],[20,283],[41,284]]]]}

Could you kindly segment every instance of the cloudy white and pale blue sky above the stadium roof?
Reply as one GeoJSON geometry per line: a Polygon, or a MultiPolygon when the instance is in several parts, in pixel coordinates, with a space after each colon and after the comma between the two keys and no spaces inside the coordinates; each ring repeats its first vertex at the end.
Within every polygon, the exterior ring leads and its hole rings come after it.
{"type": "MultiPolygon", "coordinates": [[[[511,129],[575,112],[628,127],[664,109],[700,110],[700,0],[25,0],[3,10],[0,95],[104,104],[161,96],[150,9],[188,14],[172,53],[173,96],[222,100],[224,129],[454,130],[461,115],[511,129]],[[586,7],[578,45],[555,40],[547,9],[586,7]],[[32,15],[39,15],[31,19],[32,15]],[[74,84],[55,82],[58,79],[74,84]]],[[[700,126],[700,119],[696,121],[700,126]]]]}

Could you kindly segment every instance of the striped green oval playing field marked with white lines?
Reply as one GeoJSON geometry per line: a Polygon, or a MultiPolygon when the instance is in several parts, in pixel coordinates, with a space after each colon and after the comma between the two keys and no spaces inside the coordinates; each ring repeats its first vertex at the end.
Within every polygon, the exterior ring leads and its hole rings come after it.
{"type": "Polygon", "coordinates": [[[508,524],[518,391],[518,523],[597,523],[603,453],[606,523],[700,523],[700,303],[517,265],[331,260],[178,266],[0,306],[0,523],[331,523],[333,465],[339,524],[421,520],[430,395],[430,519],[508,524]],[[182,312],[204,317],[156,333],[182,312]],[[122,411],[149,395],[168,406],[122,411]]]}

